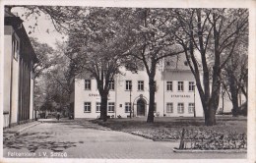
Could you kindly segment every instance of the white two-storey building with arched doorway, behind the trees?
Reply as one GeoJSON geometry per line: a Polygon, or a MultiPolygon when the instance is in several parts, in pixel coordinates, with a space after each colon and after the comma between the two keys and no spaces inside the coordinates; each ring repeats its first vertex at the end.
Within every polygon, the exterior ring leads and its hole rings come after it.
{"type": "MultiPolygon", "coordinates": [[[[156,110],[155,116],[193,117],[194,103],[197,117],[203,117],[203,108],[197,89],[194,90],[194,76],[185,60],[178,62],[165,60],[163,69],[156,73],[156,110]]],[[[130,115],[143,117],[149,111],[149,80],[146,71],[134,74],[122,68],[124,76],[119,75],[111,82],[108,94],[107,115],[111,117],[130,115]],[[130,89],[130,83],[132,88],[130,89]],[[131,95],[131,96],[130,96],[131,95]],[[131,98],[130,98],[131,97],[131,98]],[[131,102],[131,104],[130,104],[131,102]]],[[[74,93],[74,117],[97,118],[100,114],[100,95],[96,80],[76,79],[74,93]]]]}

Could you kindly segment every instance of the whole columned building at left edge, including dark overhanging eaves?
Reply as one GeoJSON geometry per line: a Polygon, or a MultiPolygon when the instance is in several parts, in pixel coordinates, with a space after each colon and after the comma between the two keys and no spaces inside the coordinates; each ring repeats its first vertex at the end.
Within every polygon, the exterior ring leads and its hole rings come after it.
{"type": "Polygon", "coordinates": [[[32,120],[32,67],[37,61],[23,21],[5,8],[3,127],[32,120]]]}

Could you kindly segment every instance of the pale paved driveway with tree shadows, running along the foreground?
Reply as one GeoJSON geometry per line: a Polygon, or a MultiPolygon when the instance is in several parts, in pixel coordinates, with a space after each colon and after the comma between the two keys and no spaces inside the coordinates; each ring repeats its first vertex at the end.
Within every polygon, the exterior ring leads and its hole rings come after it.
{"type": "MultiPolygon", "coordinates": [[[[8,132],[4,136],[8,136],[8,132]]],[[[244,153],[174,153],[176,142],[114,132],[89,121],[47,120],[4,140],[4,157],[111,159],[246,158],[244,153]]]]}

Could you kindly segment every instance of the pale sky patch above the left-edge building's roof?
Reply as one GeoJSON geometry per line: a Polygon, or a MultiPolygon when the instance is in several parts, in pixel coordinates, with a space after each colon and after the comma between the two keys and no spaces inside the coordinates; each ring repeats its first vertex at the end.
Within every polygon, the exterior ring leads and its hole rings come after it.
{"type": "Polygon", "coordinates": [[[12,13],[17,13],[19,17],[24,21],[23,25],[26,28],[26,31],[29,36],[38,38],[38,41],[41,43],[47,43],[49,46],[56,49],[55,42],[56,41],[64,41],[67,36],[64,34],[59,33],[56,31],[54,26],[52,25],[51,20],[44,15],[43,13],[37,19],[37,26],[35,27],[34,31],[32,31],[31,27],[34,27],[35,19],[32,17],[30,20],[26,20],[24,16],[25,13],[24,8],[13,8],[12,13]],[[32,33],[30,33],[32,31],[32,33]],[[47,32],[48,31],[48,32],[47,32]],[[64,36],[64,39],[63,39],[64,36]]]}

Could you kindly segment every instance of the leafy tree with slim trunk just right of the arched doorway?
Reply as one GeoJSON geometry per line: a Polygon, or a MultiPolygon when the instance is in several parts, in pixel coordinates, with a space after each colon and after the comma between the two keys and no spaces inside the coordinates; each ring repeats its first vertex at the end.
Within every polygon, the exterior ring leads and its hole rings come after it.
{"type": "Polygon", "coordinates": [[[136,9],[132,13],[131,39],[135,47],[129,53],[143,63],[149,77],[150,105],[148,123],[154,122],[155,76],[163,58],[176,56],[184,50],[179,48],[167,31],[171,24],[171,9],[136,9]]]}

